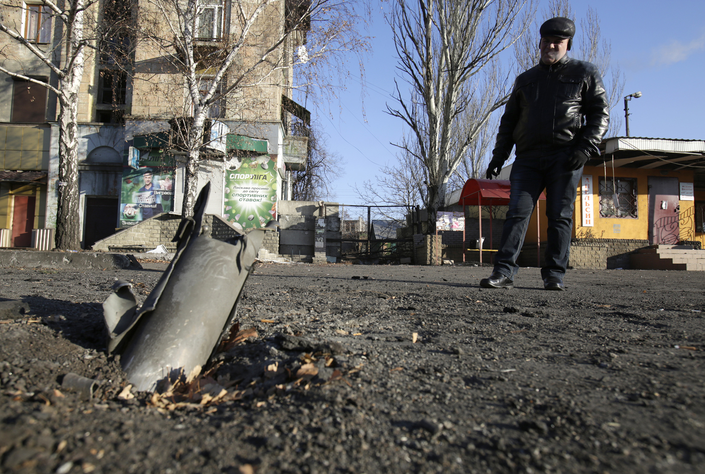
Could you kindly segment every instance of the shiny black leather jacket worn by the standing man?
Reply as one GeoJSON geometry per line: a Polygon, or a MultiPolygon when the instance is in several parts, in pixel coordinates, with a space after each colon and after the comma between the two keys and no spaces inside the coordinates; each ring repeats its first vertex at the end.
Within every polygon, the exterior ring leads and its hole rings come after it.
{"type": "Polygon", "coordinates": [[[517,77],[499,124],[493,159],[505,161],[514,145],[517,158],[597,146],[610,122],[602,77],[592,63],[563,56],[517,77]]]}

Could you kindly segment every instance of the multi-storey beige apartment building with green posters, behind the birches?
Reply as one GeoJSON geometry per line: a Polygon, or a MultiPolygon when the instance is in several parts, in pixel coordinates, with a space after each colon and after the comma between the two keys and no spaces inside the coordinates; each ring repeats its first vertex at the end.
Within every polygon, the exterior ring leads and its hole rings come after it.
{"type": "MultiPolygon", "coordinates": [[[[124,28],[112,28],[109,36],[94,34],[85,56],[78,96],[82,248],[91,248],[116,231],[157,214],[180,219],[185,186],[180,134],[192,120],[192,102],[185,79],[173,67],[178,53],[169,56],[164,46],[155,46],[157,39],[149,41],[133,33],[140,22],[144,28],[148,21],[159,21],[159,12],[154,11],[158,3],[99,0],[87,10],[95,25],[124,28]]],[[[219,60],[219,51],[229,47],[239,28],[240,8],[256,7],[257,1],[250,0],[199,0],[191,25],[193,54],[219,60]]],[[[54,51],[51,57],[63,60],[66,31],[41,0],[20,0],[0,8],[4,24],[32,48],[54,51]]],[[[251,64],[252,58],[281,38],[290,19],[301,18],[296,15],[305,15],[307,8],[305,0],[274,1],[266,6],[252,25],[250,40],[240,49],[233,70],[251,64]]],[[[158,23],[151,27],[163,32],[169,29],[158,23]]],[[[310,114],[293,101],[291,90],[293,54],[305,44],[308,28],[309,23],[297,23],[295,31],[276,46],[274,59],[259,66],[271,68],[260,71],[266,80],[235,89],[208,111],[198,188],[211,181],[206,212],[232,229],[246,231],[276,218],[277,203],[290,198],[291,172],[305,168],[310,114]],[[259,207],[239,210],[228,203],[236,194],[242,200],[250,195],[264,198],[259,207]]],[[[99,27],[95,30],[99,32],[99,27]]],[[[7,34],[1,35],[0,42],[5,68],[58,84],[56,75],[26,44],[7,34]]],[[[203,87],[214,82],[211,72],[207,66],[197,70],[203,87]]],[[[0,246],[49,250],[54,243],[60,185],[59,105],[47,88],[1,76],[0,246]]],[[[217,83],[219,90],[226,89],[235,76],[224,75],[217,83]]]]}

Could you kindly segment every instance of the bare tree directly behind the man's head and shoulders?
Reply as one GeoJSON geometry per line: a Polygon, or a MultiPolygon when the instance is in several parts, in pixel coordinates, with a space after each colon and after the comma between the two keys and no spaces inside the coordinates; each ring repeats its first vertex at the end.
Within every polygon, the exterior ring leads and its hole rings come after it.
{"type": "MultiPolygon", "coordinates": [[[[522,70],[528,70],[539,62],[539,27],[548,18],[563,16],[577,23],[577,32],[570,56],[588,61],[597,66],[607,91],[610,110],[618,105],[623,97],[625,78],[618,65],[611,62],[612,45],[602,37],[600,18],[592,7],[587,8],[583,18],[577,20],[570,0],[551,0],[548,10],[537,16],[531,30],[517,41],[515,56],[522,70]]],[[[621,115],[610,115],[610,125],[605,134],[618,134],[622,127],[621,115]]]]}

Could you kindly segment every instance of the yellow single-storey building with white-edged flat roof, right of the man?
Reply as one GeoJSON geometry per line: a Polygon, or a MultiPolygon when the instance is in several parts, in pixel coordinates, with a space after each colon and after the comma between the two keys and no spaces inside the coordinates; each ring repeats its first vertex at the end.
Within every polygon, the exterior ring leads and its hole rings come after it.
{"type": "Polygon", "coordinates": [[[704,242],[705,141],[615,137],[583,170],[575,238],[704,242]]]}

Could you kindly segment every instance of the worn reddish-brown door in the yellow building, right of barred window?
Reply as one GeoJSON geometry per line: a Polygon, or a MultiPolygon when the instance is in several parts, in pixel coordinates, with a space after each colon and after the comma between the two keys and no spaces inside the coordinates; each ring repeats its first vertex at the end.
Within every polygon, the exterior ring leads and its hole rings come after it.
{"type": "Polygon", "coordinates": [[[675,245],[678,220],[678,178],[649,177],[649,243],[675,245]]]}

